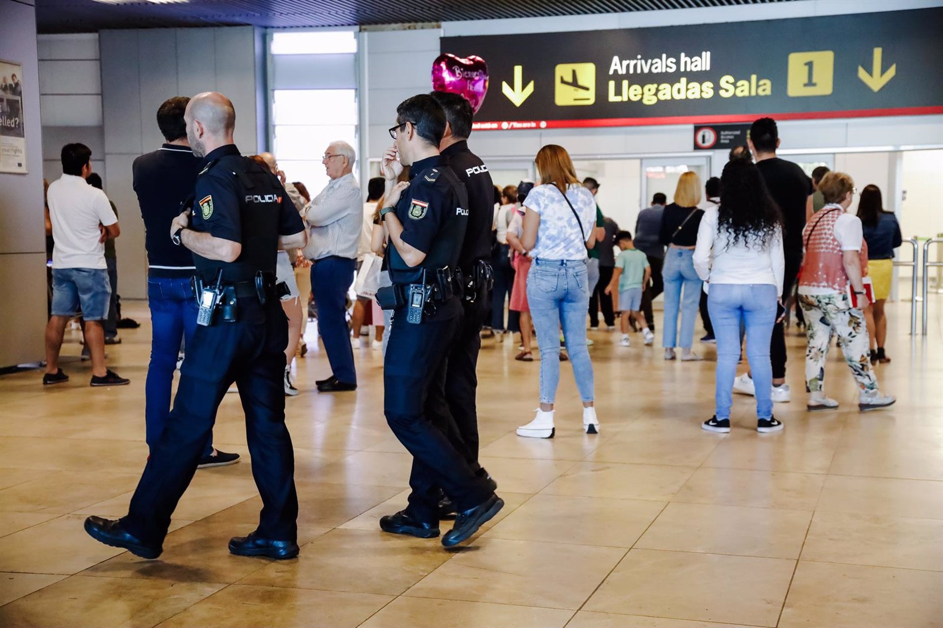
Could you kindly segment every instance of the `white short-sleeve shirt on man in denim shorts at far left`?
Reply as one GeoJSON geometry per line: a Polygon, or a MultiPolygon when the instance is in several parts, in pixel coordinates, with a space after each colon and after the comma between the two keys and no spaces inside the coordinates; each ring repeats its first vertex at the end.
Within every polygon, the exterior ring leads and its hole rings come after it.
{"type": "Polygon", "coordinates": [[[105,192],[82,177],[63,174],[46,193],[53,222],[53,268],[108,268],[98,225],[118,222],[105,192]]]}

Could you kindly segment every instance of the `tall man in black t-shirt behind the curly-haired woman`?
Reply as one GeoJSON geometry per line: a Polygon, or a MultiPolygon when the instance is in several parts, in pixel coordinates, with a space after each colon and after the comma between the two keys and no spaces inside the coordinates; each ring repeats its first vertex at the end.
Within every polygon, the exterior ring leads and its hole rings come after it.
{"type": "MultiPolygon", "coordinates": [[[[802,266],[802,229],[805,220],[812,215],[812,180],[805,172],[785,159],[776,156],[779,148],[779,130],[776,121],[761,118],[750,127],[747,139],[750,151],[756,160],[766,181],[769,195],[779,205],[783,213],[783,252],[786,257],[786,271],[783,276],[783,302],[792,294],[792,286],[802,266]]],[[[773,327],[769,346],[769,361],[772,362],[772,400],[789,400],[789,386],[786,384],[786,335],[783,321],[773,327]]],[[[738,393],[753,395],[753,379],[746,373],[736,378],[734,390],[738,393]]]]}

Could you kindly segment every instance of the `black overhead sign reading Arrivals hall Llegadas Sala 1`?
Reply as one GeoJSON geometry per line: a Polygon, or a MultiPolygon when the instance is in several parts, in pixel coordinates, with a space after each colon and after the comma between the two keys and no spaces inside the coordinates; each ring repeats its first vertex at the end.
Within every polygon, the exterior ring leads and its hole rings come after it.
{"type": "Polygon", "coordinates": [[[943,113],[943,8],[442,38],[488,62],[477,129],[943,113]]]}

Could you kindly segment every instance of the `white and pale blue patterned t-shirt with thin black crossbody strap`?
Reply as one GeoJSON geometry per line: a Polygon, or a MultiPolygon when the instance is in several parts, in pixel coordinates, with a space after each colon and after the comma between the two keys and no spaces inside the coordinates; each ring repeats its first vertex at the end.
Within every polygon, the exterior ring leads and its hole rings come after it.
{"type": "Polygon", "coordinates": [[[567,200],[554,184],[537,185],[524,200],[524,206],[540,215],[537,243],[530,256],[546,260],[585,260],[586,241],[596,225],[596,201],[592,192],[580,184],[567,188],[567,200]],[[573,215],[579,216],[577,221],[573,215]],[[583,223],[582,232],[580,222],[583,223]]]}

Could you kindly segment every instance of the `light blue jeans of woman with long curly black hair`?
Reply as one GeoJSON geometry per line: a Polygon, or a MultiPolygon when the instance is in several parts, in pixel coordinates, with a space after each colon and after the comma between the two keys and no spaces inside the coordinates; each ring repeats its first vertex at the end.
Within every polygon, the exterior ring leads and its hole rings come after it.
{"type": "Polygon", "coordinates": [[[747,330],[747,358],[756,389],[756,416],[772,416],[772,364],[769,339],[776,322],[779,295],[771,283],[711,283],[707,309],[717,338],[717,418],[729,419],[736,362],[740,359],[740,325],[747,330]]]}

